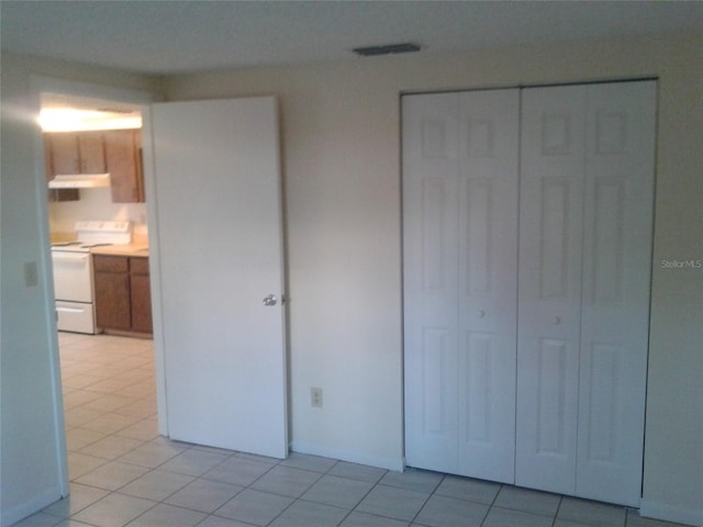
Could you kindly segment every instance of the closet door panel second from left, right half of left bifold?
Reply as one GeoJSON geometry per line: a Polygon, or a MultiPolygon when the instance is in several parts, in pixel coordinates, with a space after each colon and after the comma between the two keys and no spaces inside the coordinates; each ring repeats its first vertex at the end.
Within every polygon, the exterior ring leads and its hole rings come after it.
{"type": "Polygon", "coordinates": [[[459,94],[459,473],[514,481],[518,90],[459,94]]]}

